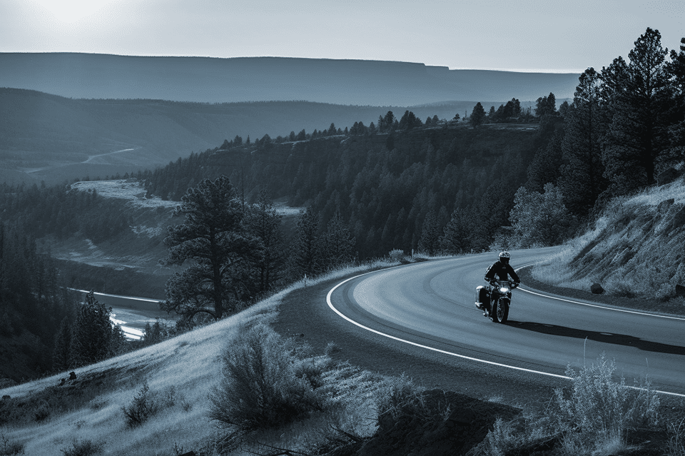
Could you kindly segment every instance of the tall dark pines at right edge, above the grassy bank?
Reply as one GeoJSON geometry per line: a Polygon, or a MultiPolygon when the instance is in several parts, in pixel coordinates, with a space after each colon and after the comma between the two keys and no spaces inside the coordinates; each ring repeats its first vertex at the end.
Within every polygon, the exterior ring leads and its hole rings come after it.
{"type": "Polygon", "coordinates": [[[543,116],[552,141],[537,151],[526,188],[552,184],[581,220],[685,159],[685,46],[669,53],[659,31],[646,29],[628,57],[584,71],[567,111],[543,116]]]}

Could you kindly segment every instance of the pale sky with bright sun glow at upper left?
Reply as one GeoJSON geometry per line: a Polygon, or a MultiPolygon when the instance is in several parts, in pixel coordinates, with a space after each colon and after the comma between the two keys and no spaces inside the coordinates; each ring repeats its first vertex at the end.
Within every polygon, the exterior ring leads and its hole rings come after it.
{"type": "Polygon", "coordinates": [[[582,72],[647,27],[685,36],[685,0],[0,0],[0,52],[285,56],[582,72]]]}

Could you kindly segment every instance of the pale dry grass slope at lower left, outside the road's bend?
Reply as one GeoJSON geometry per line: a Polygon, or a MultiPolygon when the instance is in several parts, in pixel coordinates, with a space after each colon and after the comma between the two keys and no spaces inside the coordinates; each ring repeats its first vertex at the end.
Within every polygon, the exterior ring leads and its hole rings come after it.
{"type": "MultiPolygon", "coordinates": [[[[4,442],[11,451],[21,448],[21,454],[26,456],[60,454],[72,448],[73,442],[86,440],[101,445],[101,454],[105,455],[149,455],[151,448],[160,455],[173,455],[180,447],[209,455],[207,442],[219,442],[224,435],[223,430],[209,423],[210,392],[222,375],[223,350],[240,329],[268,325],[277,318],[283,296],[297,288],[396,264],[380,260],[302,280],[212,325],[76,369],[74,382],[60,386],[61,380],[69,376],[60,373],[5,388],[0,395],[8,395],[9,399],[0,402],[0,436],[4,439],[0,444],[4,442]],[[123,408],[137,407],[136,395],[141,394],[145,384],[146,400],[156,410],[148,413],[140,425],[131,427],[123,408]],[[167,406],[165,395],[172,389],[177,400],[167,406]]],[[[315,360],[311,363],[325,365],[325,356],[309,358],[315,360]]],[[[305,365],[302,368],[304,372],[305,365]]],[[[264,441],[278,446],[300,439],[321,442],[345,435],[335,429],[367,435],[375,425],[372,399],[378,394],[381,380],[352,366],[330,366],[320,381],[336,385],[335,394],[330,393],[333,398],[327,400],[338,405],[331,405],[325,414],[311,413],[301,424],[291,423],[288,432],[264,430],[264,441]]],[[[141,410],[144,408],[141,403],[141,410]]]]}

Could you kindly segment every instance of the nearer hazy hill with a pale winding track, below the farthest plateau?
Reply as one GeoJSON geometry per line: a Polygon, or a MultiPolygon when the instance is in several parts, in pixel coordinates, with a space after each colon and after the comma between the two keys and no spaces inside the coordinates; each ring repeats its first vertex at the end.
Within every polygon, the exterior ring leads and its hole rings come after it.
{"type": "MultiPolygon", "coordinates": [[[[453,118],[456,113],[470,112],[475,103],[412,109],[423,120],[428,116],[453,118]]],[[[484,106],[501,103],[484,102],[484,106]]],[[[254,140],[303,129],[309,133],[331,123],[341,128],[357,121],[369,125],[387,111],[403,113],[406,109],[305,101],[86,100],[0,88],[0,182],[63,183],[88,176],[123,176],[164,166],[235,136],[254,140]]]]}

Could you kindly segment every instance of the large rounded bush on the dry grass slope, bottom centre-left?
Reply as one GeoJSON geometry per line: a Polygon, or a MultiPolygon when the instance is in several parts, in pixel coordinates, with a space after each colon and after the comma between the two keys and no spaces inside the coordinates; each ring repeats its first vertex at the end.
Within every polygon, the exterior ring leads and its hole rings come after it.
{"type": "Polygon", "coordinates": [[[323,410],[323,394],[315,390],[323,369],[306,361],[293,340],[256,325],[223,353],[223,378],[211,395],[210,417],[230,430],[249,432],[323,410]]]}

